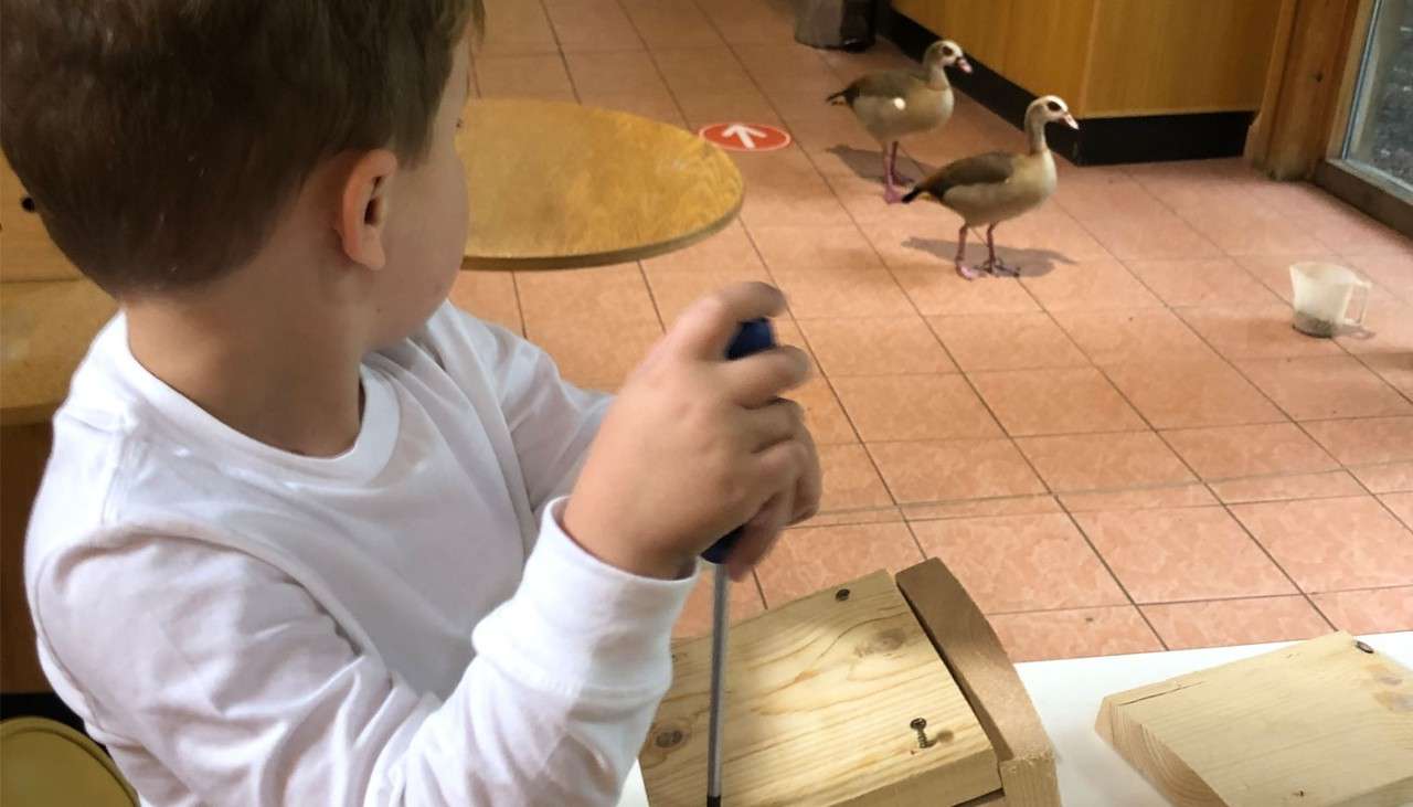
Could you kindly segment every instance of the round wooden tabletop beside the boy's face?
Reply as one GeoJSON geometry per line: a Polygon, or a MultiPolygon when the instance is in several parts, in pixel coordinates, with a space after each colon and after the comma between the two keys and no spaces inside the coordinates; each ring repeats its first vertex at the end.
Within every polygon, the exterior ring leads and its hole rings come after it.
{"type": "Polygon", "coordinates": [[[639,260],[698,242],[740,211],[745,182],[735,163],[675,126],[521,99],[472,100],[463,122],[463,269],[639,260]]]}

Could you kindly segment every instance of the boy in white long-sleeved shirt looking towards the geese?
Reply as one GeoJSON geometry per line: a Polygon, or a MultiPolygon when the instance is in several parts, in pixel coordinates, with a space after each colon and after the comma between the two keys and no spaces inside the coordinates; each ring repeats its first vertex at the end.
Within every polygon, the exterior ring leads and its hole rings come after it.
{"type": "Polygon", "coordinates": [[[820,496],[803,355],[722,360],[779,293],[612,406],[451,310],[472,0],[3,11],[6,153],[122,304],[27,544],[61,697],[147,804],[612,804],[698,553],[820,496]]]}

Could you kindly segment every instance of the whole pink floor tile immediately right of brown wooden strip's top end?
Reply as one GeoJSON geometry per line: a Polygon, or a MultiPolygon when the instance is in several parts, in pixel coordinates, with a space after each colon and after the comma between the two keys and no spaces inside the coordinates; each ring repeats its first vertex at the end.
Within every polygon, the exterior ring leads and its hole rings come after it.
{"type": "Polygon", "coordinates": [[[1063,513],[917,522],[913,534],[986,613],[1128,603],[1063,513]]]}

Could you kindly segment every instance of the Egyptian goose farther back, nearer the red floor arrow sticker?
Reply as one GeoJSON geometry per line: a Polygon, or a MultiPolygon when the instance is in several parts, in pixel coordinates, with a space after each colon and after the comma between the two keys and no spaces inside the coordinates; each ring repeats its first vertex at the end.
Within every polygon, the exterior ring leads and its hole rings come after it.
{"type": "Polygon", "coordinates": [[[924,75],[877,71],[859,76],[825,99],[832,105],[849,105],[863,129],[883,147],[883,199],[889,204],[900,198],[894,184],[904,184],[896,170],[899,139],[931,131],[952,116],[952,85],[947,81],[951,65],[964,73],[971,72],[961,47],[951,40],[940,40],[923,54],[924,75]]]}

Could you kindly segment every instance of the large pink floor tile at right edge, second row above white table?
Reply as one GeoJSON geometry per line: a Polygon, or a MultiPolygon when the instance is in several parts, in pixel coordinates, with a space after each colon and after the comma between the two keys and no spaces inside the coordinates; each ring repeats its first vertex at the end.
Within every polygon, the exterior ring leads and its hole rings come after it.
{"type": "Polygon", "coordinates": [[[1304,591],[1413,584],[1413,531],[1372,496],[1235,505],[1232,513],[1304,591]]]}

